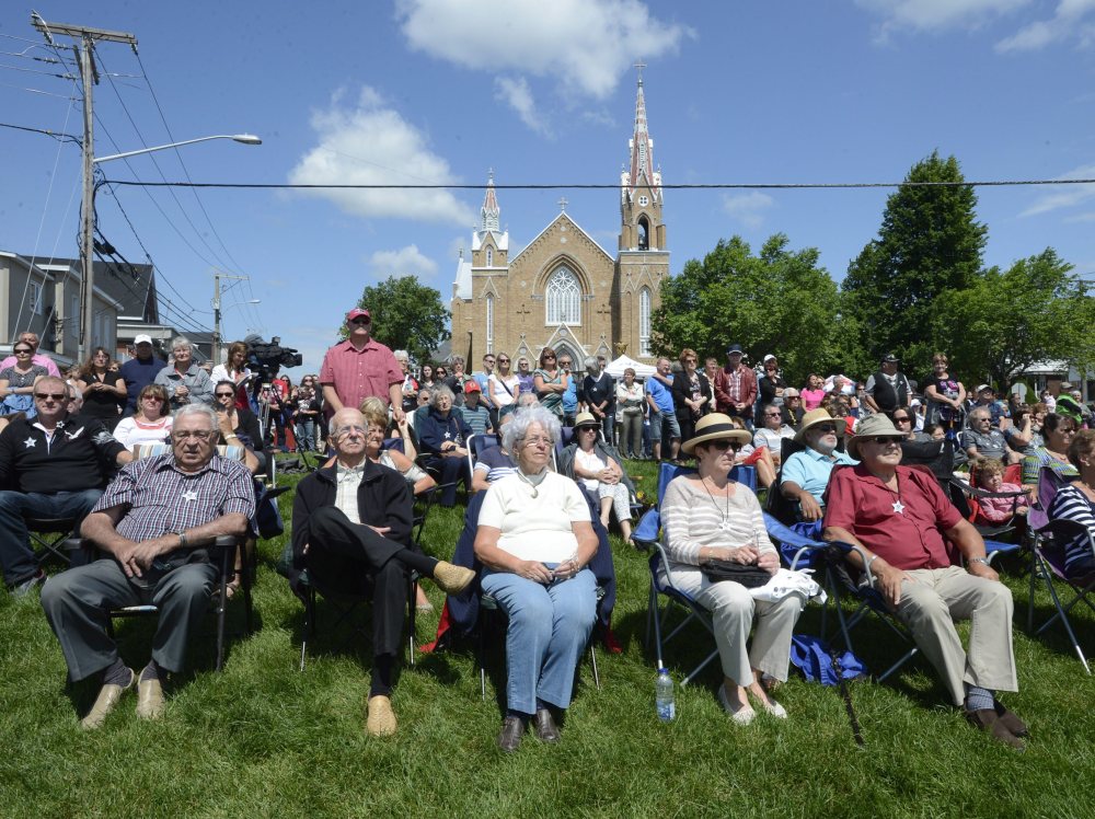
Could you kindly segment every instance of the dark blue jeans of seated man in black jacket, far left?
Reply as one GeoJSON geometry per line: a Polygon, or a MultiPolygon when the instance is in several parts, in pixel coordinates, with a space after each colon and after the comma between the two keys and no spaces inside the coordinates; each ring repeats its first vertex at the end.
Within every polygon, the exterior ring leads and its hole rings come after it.
{"type": "Polygon", "coordinates": [[[102,496],[102,489],[83,492],[0,492],[0,563],[9,586],[34,577],[38,564],[31,549],[31,535],[24,518],[74,518],[73,529],[87,517],[102,496]]]}

